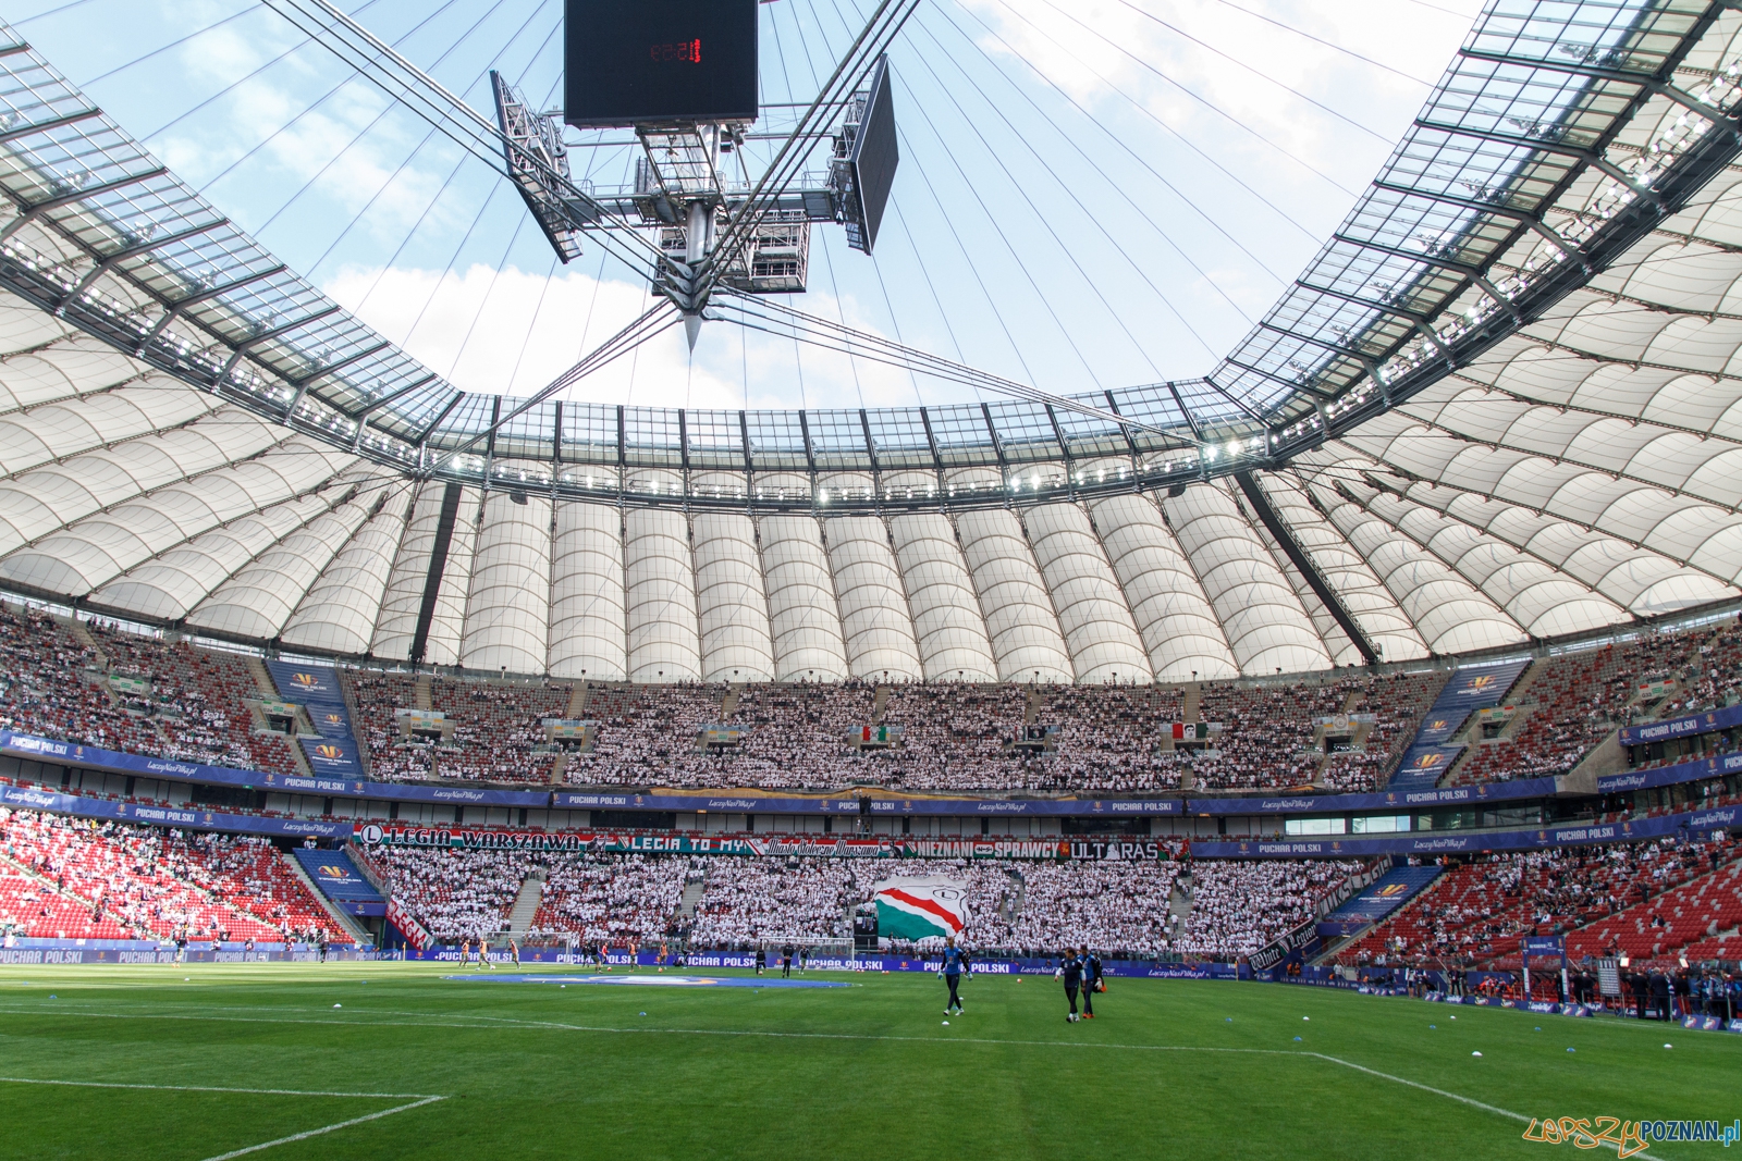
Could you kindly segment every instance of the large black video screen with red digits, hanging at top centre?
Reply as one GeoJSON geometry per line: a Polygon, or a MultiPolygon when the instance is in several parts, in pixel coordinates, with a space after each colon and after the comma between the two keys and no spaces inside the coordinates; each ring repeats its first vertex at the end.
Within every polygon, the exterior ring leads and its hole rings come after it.
{"type": "Polygon", "coordinates": [[[756,0],[566,0],[563,120],[756,120],[756,0]]]}

